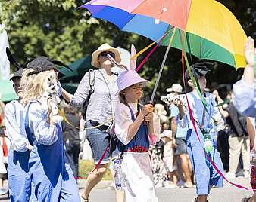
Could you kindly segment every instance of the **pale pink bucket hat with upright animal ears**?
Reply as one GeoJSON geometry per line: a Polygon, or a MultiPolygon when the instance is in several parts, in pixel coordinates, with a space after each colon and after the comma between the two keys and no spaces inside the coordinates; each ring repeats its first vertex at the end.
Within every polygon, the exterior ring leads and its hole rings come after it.
{"type": "MultiPolygon", "coordinates": [[[[134,45],[132,44],[131,57],[135,55],[136,50],[134,45]]],[[[114,63],[115,66],[126,69],[126,71],[121,72],[120,75],[117,77],[117,86],[119,92],[126,89],[126,87],[130,87],[133,84],[142,83],[143,87],[149,84],[149,81],[141,78],[139,74],[135,71],[137,57],[131,60],[130,68],[127,68],[126,66],[117,63],[110,55],[108,55],[108,58],[111,60],[112,63],[114,63]]]]}

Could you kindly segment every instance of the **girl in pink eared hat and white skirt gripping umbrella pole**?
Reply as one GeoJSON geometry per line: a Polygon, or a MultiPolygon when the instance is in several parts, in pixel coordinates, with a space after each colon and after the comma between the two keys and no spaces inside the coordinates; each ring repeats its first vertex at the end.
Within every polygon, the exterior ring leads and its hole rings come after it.
{"type": "MultiPolygon", "coordinates": [[[[132,56],[136,50],[132,45],[132,56]]],[[[118,64],[117,64],[118,65],[118,64]]],[[[135,71],[136,58],[131,66],[117,78],[120,102],[115,112],[115,133],[120,140],[123,153],[122,170],[126,176],[126,201],[158,201],[155,194],[151,161],[148,155],[150,145],[156,141],[153,127],[153,106],[142,107],[139,100],[149,81],[141,78],[135,71]],[[147,122],[147,124],[145,124],[147,122]]]]}

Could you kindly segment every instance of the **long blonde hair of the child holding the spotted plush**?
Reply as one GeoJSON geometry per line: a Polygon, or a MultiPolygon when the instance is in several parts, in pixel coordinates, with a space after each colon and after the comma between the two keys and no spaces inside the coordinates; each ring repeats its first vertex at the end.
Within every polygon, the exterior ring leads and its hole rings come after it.
{"type": "Polygon", "coordinates": [[[24,105],[27,105],[27,103],[30,103],[30,101],[40,99],[42,97],[45,79],[47,79],[48,74],[54,70],[27,76],[27,74],[32,71],[33,69],[25,70],[20,80],[20,85],[23,86],[24,105]]]}

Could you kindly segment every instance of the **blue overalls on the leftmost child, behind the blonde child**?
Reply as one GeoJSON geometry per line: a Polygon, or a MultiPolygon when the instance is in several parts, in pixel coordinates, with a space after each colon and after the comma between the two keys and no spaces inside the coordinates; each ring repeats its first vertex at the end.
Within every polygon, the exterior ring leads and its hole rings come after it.
{"type": "MultiPolygon", "coordinates": [[[[15,118],[23,118],[22,111],[20,111],[16,103],[11,103],[14,107],[15,118]],[[20,115],[17,115],[20,113],[20,115]]],[[[18,123],[23,123],[19,120],[18,123]]],[[[22,130],[20,126],[20,130],[22,130]]],[[[28,160],[30,158],[30,151],[17,152],[11,149],[8,152],[8,185],[11,201],[27,202],[31,195],[31,179],[29,175],[28,160]]]]}

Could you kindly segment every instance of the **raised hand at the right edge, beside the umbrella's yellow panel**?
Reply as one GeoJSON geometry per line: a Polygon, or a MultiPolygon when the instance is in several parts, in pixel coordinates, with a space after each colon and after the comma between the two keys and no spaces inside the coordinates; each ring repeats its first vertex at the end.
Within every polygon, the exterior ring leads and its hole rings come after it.
{"type": "Polygon", "coordinates": [[[255,54],[256,54],[256,49],[254,48],[254,40],[249,36],[245,42],[245,60],[248,66],[254,67],[255,54]]]}

